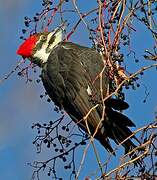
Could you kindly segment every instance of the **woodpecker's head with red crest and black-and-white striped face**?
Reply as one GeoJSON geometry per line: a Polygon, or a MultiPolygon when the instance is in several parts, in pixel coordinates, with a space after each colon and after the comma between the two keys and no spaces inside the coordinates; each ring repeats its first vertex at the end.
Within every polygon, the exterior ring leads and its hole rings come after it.
{"type": "Polygon", "coordinates": [[[42,32],[31,35],[18,48],[17,54],[28,58],[31,62],[42,66],[52,49],[62,41],[63,29],[57,28],[53,32],[42,32]]]}

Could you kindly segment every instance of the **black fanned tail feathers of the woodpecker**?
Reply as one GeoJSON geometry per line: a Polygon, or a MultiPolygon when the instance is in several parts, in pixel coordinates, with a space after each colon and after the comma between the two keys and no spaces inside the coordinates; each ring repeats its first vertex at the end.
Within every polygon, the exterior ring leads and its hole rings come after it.
{"type": "MultiPolygon", "coordinates": [[[[132,131],[128,127],[135,126],[135,124],[125,115],[120,112],[114,111],[112,108],[106,107],[106,117],[104,120],[104,128],[105,128],[105,137],[111,138],[118,145],[122,143],[122,146],[125,148],[125,154],[132,151],[136,148],[136,145],[132,142],[132,138],[138,139],[132,135],[132,131]],[[128,138],[131,136],[130,138],[128,138]],[[128,139],[127,139],[128,138],[128,139]],[[126,140],[127,139],[127,140],[126,140]]],[[[110,145],[109,140],[105,140],[104,138],[99,139],[101,144],[111,153],[113,153],[113,149],[110,145]]],[[[115,152],[114,152],[115,153],[115,152]]],[[[113,153],[113,154],[114,154],[113,153]]],[[[130,158],[134,159],[137,157],[136,152],[130,153],[130,158]]],[[[141,165],[141,160],[137,160],[134,162],[135,165],[141,165]]]]}

